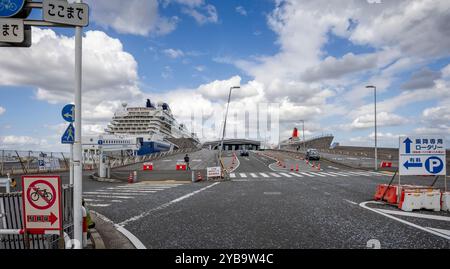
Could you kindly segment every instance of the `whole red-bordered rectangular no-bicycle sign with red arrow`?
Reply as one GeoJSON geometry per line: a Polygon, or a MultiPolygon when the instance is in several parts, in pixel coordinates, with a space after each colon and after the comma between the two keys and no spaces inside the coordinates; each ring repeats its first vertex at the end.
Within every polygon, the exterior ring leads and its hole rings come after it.
{"type": "Polygon", "coordinates": [[[62,229],[61,179],[58,176],[23,176],[25,230],[44,234],[62,229]]]}

